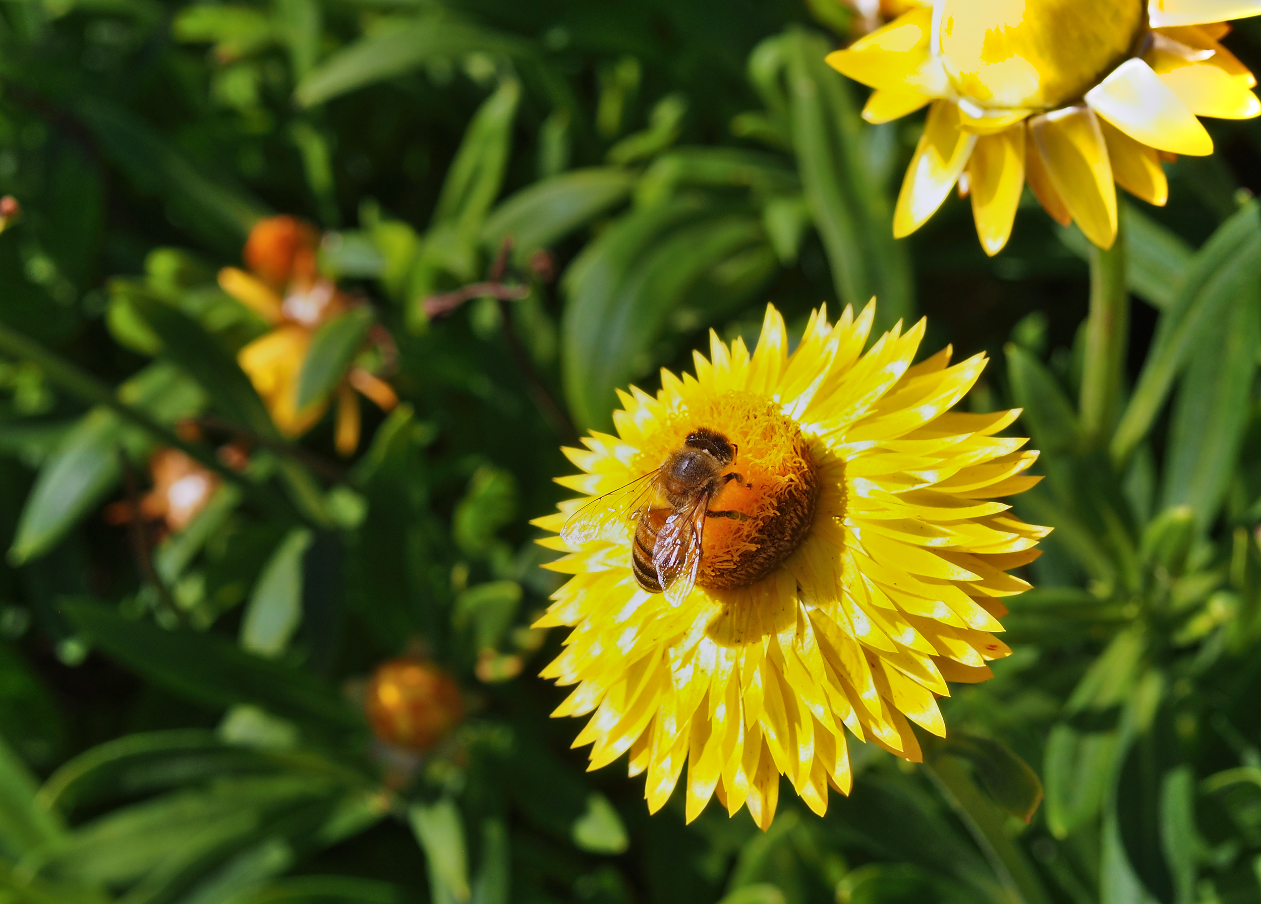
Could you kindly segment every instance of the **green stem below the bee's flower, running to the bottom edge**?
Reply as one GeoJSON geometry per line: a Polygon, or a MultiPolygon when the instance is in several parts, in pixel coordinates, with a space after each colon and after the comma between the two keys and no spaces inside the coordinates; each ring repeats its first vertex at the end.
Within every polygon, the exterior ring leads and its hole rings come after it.
{"type": "Polygon", "coordinates": [[[1050,904],[1042,880],[1008,835],[1009,817],[976,787],[955,756],[926,751],[924,772],[955,809],[981,847],[1001,885],[999,900],[1010,904],[1050,904]]]}

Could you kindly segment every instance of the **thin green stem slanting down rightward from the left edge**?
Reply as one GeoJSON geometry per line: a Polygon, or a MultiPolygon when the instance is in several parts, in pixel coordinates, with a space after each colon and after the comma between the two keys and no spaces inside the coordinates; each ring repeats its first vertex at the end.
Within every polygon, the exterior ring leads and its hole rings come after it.
{"type": "Polygon", "coordinates": [[[248,493],[253,494],[261,504],[276,513],[282,514],[285,519],[295,517],[296,512],[270,488],[246,480],[241,474],[219,461],[218,458],[216,458],[216,455],[208,449],[180,439],[179,435],[177,435],[170,427],[153,420],[144,411],[134,409],[120,401],[119,396],[107,383],[103,383],[87,371],[72,364],[61,356],[49,352],[34,339],[19,333],[4,323],[0,323],[0,352],[4,352],[13,358],[38,364],[39,369],[44,372],[44,376],[47,376],[62,390],[78,398],[81,402],[87,405],[101,405],[110,409],[124,420],[130,421],[148,432],[160,444],[179,449],[190,459],[194,459],[204,468],[213,470],[224,480],[242,487],[248,493]]]}

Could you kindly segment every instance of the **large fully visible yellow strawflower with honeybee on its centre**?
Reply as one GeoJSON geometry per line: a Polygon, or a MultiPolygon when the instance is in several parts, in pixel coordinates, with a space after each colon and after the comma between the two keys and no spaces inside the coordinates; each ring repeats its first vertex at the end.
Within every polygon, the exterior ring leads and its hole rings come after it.
{"type": "Polygon", "coordinates": [[[994,499],[1037,483],[1024,474],[1037,453],[995,436],[1016,411],[950,411],[984,354],[912,366],[923,322],[863,354],[874,311],[846,308],[836,325],[816,311],[789,354],[768,308],[753,354],[711,334],[695,377],[662,371],[656,397],[622,393],[618,436],[566,450],[585,473],[560,483],[584,498],[535,522],[562,533],[541,542],[569,553],[549,567],[572,575],[536,623],[574,628],[543,672],[578,686],[552,715],[594,712],[575,746],[594,743],[593,769],[629,753],[651,811],[686,760],[689,820],[716,793],[765,828],[781,774],[822,813],[828,784],[852,784],[844,727],[918,760],[908,719],[944,735],[946,682],[984,681],[1010,652],[992,633],[999,598],[1028,584],[1005,571],[1033,561],[1047,530],[994,499]],[[632,518],[608,517],[598,536],[572,530],[615,513],[628,483],[661,485],[675,472],[654,469],[685,448],[728,460],[694,519],[686,594],[687,569],[671,582],[658,555],[678,527],[660,493],[636,494],[632,518]],[[665,593],[643,586],[662,575],[665,593]]]}

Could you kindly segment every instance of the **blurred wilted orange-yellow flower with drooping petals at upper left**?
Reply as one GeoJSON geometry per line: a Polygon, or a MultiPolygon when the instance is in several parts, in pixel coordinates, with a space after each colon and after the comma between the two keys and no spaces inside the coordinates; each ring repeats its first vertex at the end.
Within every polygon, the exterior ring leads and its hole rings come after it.
{"type": "MultiPolygon", "coordinates": [[[[296,438],[324,416],[328,400],[299,410],[298,387],[315,330],[344,314],[351,300],[315,267],[319,236],[293,217],[260,219],[250,232],[245,257],[253,272],[219,271],[219,286],[252,309],[274,329],[241,349],[237,362],[267,405],[285,436],[296,438]]],[[[352,367],[337,388],[337,450],[351,455],[359,445],[358,390],[388,411],[398,397],[388,383],[352,367]]]]}

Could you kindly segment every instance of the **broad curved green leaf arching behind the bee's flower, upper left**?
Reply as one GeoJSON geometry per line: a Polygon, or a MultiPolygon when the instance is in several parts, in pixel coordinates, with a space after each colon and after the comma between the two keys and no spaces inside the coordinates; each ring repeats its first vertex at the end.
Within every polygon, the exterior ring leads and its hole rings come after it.
{"type": "MultiPolygon", "coordinates": [[[[615,388],[651,369],[649,349],[690,290],[765,245],[760,218],[685,198],[638,209],[605,229],[565,274],[565,395],[581,426],[604,427],[615,388]]],[[[735,306],[738,295],[720,295],[735,306]]]]}

